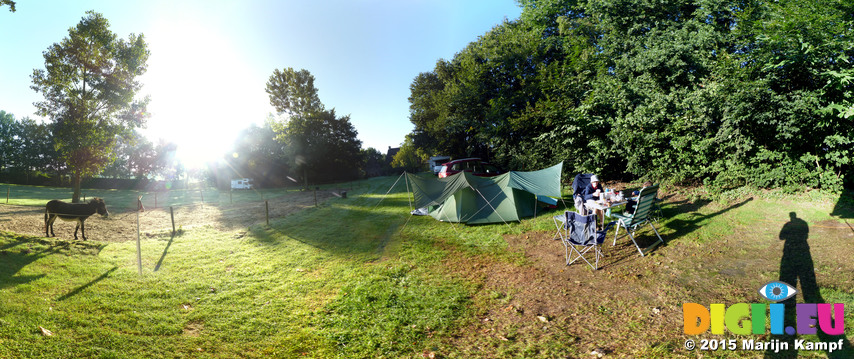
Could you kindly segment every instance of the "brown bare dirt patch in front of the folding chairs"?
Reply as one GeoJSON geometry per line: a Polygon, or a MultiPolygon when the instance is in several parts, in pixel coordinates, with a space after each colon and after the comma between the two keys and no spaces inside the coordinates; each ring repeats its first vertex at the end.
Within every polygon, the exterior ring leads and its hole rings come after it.
{"type": "Polygon", "coordinates": [[[641,258],[631,243],[613,248],[608,244],[607,257],[594,272],[585,263],[566,266],[563,245],[549,233],[506,239],[511,250],[523,253],[530,265],[449,260],[449,268],[459,268],[467,279],[483,284],[480,298],[475,298],[482,303],[482,312],[464,330],[481,335],[460,336],[454,347],[487,352],[492,348],[493,354],[501,356],[520,354],[501,348],[529,345],[514,341],[549,338],[580,349],[576,354],[594,349],[614,353],[625,352],[627,345],[635,346],[629,349],[633,351],[660,342],[681,329],[681,318],[672,313],[676,303],[668,305],[660,288],[644,284],[650,281],[651,265],[643,260],[651,257],[641,258]]]}

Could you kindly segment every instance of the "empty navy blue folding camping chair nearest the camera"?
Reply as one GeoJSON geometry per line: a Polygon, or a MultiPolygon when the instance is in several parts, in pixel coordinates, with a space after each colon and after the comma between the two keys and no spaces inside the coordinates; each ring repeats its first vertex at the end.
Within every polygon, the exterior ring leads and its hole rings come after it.
{"type": "Polygon", "coordinates": [[[597,231],[595,214],[582,216],[570,211],[554,216],[554,221],[555,227],[557,227],[555,239],[560,238],[563,242],[566,265],[582,259],[593,270],[599,269],[599,258],[604,256],[600,246],[605,241],[605,233],[615,222],[608,223],[605,229],[597,231]],[[584,257],[590,251],[593,251],[593,255],[596,256],[594,263],[590,263],[584,257]]]}

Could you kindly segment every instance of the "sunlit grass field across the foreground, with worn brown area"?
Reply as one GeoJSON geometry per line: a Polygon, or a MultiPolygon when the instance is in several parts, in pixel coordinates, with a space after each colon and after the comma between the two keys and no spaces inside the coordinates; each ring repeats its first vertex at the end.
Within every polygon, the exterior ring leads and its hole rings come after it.
{"type": "MultiPolygon", "coordinates": [[[[800,268],[798,302],[846,305],[846,336],[801,338],[847,347],[767,357],[854,355],[850,202],[774,193],[712,202],[670,189],[658,224],[667,244],[640,257],[631,243],[606,242],[593,272],[564,265],[555,212],[489,226],[410,217],[403,186],[385,195],[394,180],[362,181],[349,198],[270,227],[145,236],[142,275],[135,241],[0,232],[0,358],[763,357],[684,349],[686,339],[774,337],[686,336],[681,305],[764,303],[758,287],[790,266],[800,268]],[[809,245],[787,258],[790,212],[809,245]]],[[[12,188],[32,205],[61,191],[12,188]]]]}

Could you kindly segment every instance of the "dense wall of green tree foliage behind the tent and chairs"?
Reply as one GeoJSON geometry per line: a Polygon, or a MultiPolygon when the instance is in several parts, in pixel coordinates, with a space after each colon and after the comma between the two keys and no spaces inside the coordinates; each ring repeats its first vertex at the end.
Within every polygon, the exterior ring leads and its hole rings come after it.
{"type": "Polygon", "coordinates": [[[854,178],[854,3],[520,4],[414,79],[416,147],[719,187],[854,178]]]}

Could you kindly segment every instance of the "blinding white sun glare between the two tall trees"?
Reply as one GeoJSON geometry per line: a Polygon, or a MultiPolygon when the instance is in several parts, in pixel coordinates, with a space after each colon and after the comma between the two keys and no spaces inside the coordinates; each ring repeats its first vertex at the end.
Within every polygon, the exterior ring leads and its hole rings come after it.
{"type": "Polygon", "coordinates": [[[186,168],[223,158],[242,129],[271,111],[266,78],[221,30],[187,20],[163,22],[145,36],[151,55],[141,81],[151,117],[143,133],[175,143],[186,168]]]}

